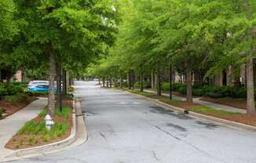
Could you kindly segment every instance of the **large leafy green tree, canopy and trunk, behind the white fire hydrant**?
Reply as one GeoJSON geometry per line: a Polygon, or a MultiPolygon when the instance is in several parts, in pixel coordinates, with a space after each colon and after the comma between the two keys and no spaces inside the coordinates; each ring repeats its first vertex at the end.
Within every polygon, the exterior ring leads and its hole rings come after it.
{"type": "Polygon", "coordinates": [[[113,2],[19,0],[16,3],[20,18],[26,21],[16,53],[48,59],[48,108],[53,115],[56,63],[69,64],[80,59],[71,64],[71,68],[77,67],[99,55],[105,45],[113,43],[116,31],[113,2]]]}

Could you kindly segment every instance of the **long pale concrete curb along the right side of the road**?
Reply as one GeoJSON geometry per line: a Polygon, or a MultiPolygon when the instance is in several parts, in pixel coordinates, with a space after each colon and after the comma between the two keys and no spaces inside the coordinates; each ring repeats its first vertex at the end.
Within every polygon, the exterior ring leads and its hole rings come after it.
{"type": "MultiPolygon", "coordinates": [[[[128,91],[125,91],[125,92],[127,92],[128,94],[131,94],[131,95],[139,96],[144,100],[149,100],[149,101],[152,101],[154,103],[158,103],[160,105],[163,105],[163,106],[167,107],[170,110],[176,110],[177,112],[181,112],[181,113],[184,113],[184,111],[185,111],[185,109],[182,109],[181,107],[175,107],[175,106],[170,105],[168,103],[163,103],[162,101],[152,99],[150,97],[138,95],[138,94],[133,93],[133,92],[128,92],[128,91]]],[[[225,119],[221,119],[221,118],[214,118],[214,117],[211,117],[209,115],[199,114],[199,113],[196,113],[196,112],[193,112],[193,111],[189,111],[188,114],[192,115],[194,117],[197,117],[197,118],[203,118],[203,119],[207,119],[207,120],[210,120],[210,121],[217,121],[221,124],[232,125],[232,126],[240,128],[240,129],[245,129],[245,130],[248,130],[248,131],[251,131],[251,132],[256,132],[256,127],[252,126],[252,125],[245,125],[243,123],[239,123],[239,122],[236,122],[236,121],[229,121],[229,120],[225,120],[225,119]]]]}

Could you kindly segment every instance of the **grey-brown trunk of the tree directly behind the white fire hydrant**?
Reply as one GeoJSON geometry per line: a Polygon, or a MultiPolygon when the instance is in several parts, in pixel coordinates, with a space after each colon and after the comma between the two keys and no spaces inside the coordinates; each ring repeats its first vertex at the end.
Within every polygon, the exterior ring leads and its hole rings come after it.
{"type": "Polygon", "coordinates": [[[54,79],[55,79],[55,59],[53,53],[49,55],[49,96],[48,110],[51,116],[54,115],[55,96],[54,96],[54,79]]]}

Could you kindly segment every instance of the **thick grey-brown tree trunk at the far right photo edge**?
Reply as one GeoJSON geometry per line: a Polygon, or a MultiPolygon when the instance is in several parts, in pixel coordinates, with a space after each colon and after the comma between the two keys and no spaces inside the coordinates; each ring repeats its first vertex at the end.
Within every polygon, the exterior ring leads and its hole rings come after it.
{"type": "Polygon", "coordinates": [[[247,114],[256,114],[254,100],[254,62],[247,61],[247,114]]]}

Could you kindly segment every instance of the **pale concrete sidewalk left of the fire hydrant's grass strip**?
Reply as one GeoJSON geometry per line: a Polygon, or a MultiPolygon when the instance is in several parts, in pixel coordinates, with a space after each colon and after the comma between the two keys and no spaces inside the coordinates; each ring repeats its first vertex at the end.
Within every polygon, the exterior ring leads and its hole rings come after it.
{"type": "Polygon", "coordinates": [[[5,148],[5,143],[7,143],[27,121],[37,117],[38,113],[42,108],[46,107],[46,105],[47,98],[39,98],[27,105],[27,107],[24,107],[24,109],[0,120],[0,161],[2,158],[12,153],[12,150],[5,148]]]}

